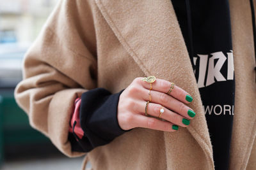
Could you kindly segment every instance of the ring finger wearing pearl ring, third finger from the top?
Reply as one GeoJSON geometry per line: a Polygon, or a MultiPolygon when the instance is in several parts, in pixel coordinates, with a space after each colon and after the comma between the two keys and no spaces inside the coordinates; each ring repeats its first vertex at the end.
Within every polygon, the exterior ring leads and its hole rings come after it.
{"type": "MultiPolygon", "coordinates": [[[[141,115],[145,115],[145,105],[147,102],[141,102],[140,108],[141,115]]],[[[160,115],[160,110],[162,109],[161,104],[156,104],[156,103],[148,103],[147,107],[147,113],[148,115],[152,115],[153,117],[159,117],[160,115]]],[[[181,127],[187,127],[190,123],[191,117],[182,117],[181,115],[168,110],[168,108],[163,108],[164,112],[161,115],[161,118],[164,120],[167,120],[168,122],[171,122],[172,124],[179,125],[181,127]]]]}

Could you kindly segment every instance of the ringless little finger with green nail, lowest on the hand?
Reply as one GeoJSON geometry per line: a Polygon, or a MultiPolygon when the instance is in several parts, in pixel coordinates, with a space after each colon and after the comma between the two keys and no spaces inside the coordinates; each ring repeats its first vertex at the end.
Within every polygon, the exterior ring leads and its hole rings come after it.
{"type": "Polygon", "coordinates": [[[179,129],[177,125],[170,122],[164,122],[162,120],[158,120],[157,118],[145,117],[138,114],[134,116],[134,122],[136,122],[136,127],[144,127],[158,131],[174,132],[179,129]]]}

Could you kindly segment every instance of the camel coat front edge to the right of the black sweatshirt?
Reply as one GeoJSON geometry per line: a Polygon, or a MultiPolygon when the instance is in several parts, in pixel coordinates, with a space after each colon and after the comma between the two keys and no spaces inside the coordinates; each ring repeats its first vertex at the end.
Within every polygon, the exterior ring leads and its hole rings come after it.
{"type": "MultiPolygon", "coordinates": [[[[256,2],[253,1],[256,10],[256,2]]],[[[256,136],[255,53],[250,1],[230,0],[236,95],[230,169],[246,169],[256,136]]],[[[249,168],[250,169],[250,168],[249,168]]],[[[254,167],[255,169],[255,167],[254,167]]]]}

